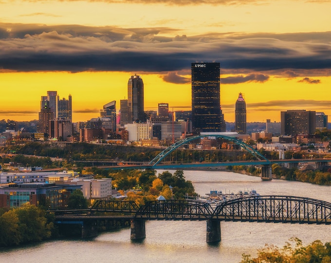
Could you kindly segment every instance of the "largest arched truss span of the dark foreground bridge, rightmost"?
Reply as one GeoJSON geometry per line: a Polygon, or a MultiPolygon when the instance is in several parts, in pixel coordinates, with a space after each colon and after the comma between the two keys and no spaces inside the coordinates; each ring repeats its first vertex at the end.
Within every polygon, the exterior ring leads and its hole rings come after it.
{"type": "Polygon", "coordinates": [[[331,224],[331,203],[294,196],[254,196],[225,202],[214,217],[227,221],[331,224]]]}

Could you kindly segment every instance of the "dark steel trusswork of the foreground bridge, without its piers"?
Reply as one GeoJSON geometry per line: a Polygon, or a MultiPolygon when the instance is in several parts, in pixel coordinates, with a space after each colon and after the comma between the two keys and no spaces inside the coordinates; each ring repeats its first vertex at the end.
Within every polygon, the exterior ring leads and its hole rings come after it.
{"type": "Polygon", "coordinates": [[[331,224],[331,203],[295,196],[251,196],[218,206],[196,200],[163,200],[138,207],[129,201],[97,201],[96,212],[131,213],[144,220],[216,220],[264,223],[331,224]]]}

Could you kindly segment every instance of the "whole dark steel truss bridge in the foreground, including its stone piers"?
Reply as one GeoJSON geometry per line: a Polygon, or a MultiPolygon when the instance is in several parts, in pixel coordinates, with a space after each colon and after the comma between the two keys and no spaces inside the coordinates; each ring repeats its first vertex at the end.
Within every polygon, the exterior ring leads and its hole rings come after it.
{"type": "Polygon", "coordinates": [[[81,225],[82,237],[96,235],[99,224],[130,225],[131,240],[146,237],[147,220],[206,221],[207,243],[221,241],[221,221],[331,224],[331,203],[279,195],[242,197],[215,207],[196,200],[153,201],[141,207],[133,201],[97,201],[89,209],[49,212],[55,213],[55,224],[81,225]]]}

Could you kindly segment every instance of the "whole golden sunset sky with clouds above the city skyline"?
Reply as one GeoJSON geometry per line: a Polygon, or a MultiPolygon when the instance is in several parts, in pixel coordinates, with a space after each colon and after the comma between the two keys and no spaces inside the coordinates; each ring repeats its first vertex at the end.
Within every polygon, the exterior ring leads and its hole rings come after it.
{"type": "Polygon", "coordinates": [[[280,111],[331,115],[329,0],[0,0],[0,119],[38,118],[40,97],[73,96],[73,120],[99,116],[143,78],[145,110],[191,109],[191,63],[221,63],[233,122],[280,111]]]}

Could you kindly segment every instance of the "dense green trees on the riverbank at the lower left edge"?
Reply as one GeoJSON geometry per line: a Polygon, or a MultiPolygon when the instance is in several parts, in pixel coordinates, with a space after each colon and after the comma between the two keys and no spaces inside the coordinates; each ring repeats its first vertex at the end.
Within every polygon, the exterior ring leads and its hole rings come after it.
{"type": "Polygon", "coordinates": [[[45,210],[25,205],[0,216],[0,246],[18,245],[48,239],[55,233],[54,218],[45,210]]]}

